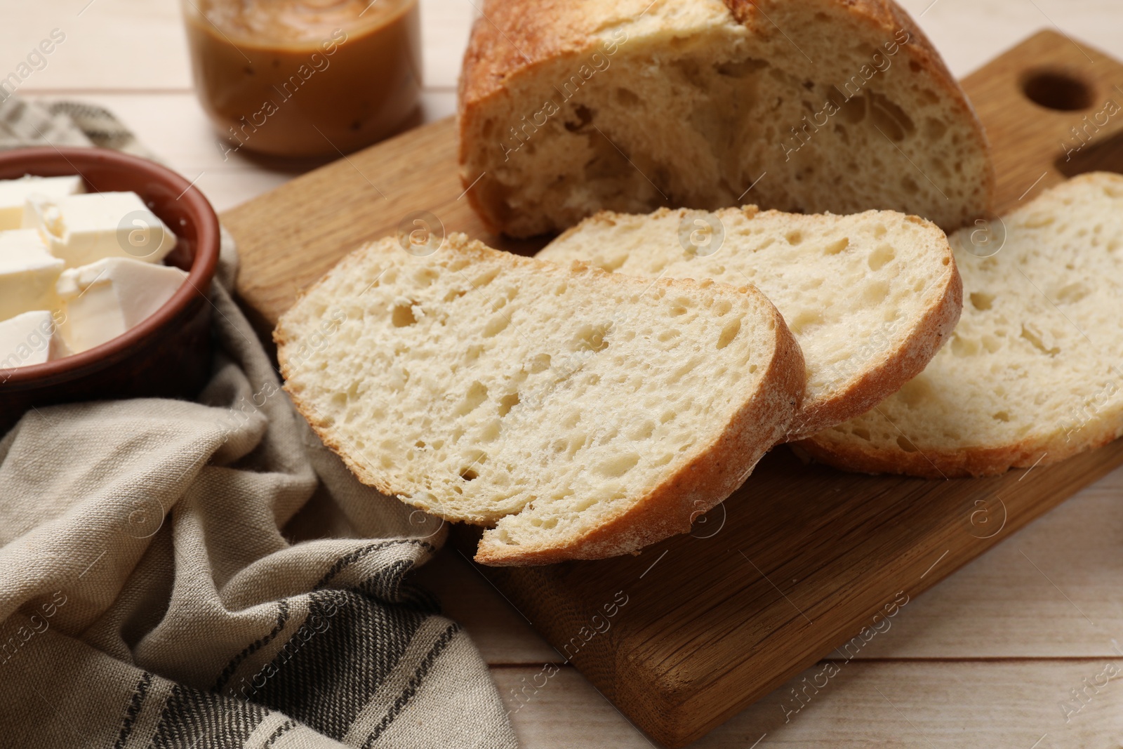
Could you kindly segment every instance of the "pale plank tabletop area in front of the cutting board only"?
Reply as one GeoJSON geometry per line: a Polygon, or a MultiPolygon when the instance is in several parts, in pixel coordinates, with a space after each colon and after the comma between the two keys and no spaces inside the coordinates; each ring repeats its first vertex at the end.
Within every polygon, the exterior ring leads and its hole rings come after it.
{"type": "MultiPolygon", "coordinates": [[[[1081,679],[1094,679],[1120,657],[1121,499],[1123,471],[1116,471],[911,601],[791,721],[783,721],[785,706],[794,706],[791,689],[802,688],[825,661],[692,746],[747,749],[766,734],[761,749],[1030,749],[1039,739],[1038,749],[1119,747],[1123,688],[1116,682],[1068,722],[1061,705],[1070,689],[1085,687],[1081,679]],[[865,670],[870,661],[876,670],[865,670]],[[895,709],[879,702],[875,688],[895,709]],[[901,703],[896,695],[904,692],[912,696],[901,703]],[[935,731],[912,732],[910,720],[935,731]]],[[[447,613],[495,665],[493,677],[523,746],[651,746],[463,557],[446,549],[419,582],[441,591],[447,613]],[[544,679],[546,664],[558,666],[556,676],[544,679]]]]}

